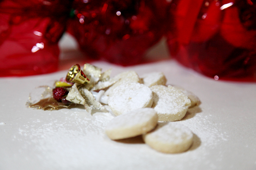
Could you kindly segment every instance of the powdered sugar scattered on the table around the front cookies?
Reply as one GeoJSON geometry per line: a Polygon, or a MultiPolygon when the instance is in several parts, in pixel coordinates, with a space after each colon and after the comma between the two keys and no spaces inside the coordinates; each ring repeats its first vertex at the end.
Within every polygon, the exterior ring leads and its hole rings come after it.
{"type": "MultiPolygon", "coordinates": [[[[195,110],[190,110],[190,112],[195,110]]],[[[143,155],[148,161],[153,157],[163,159],[167,156],[157,153],[146,144],[117,143],[108,139],[105,135],[105,126],[114,118],[109,112],[96,112],[89,115],[85,114],[83,109],[73,108],[71,114],[65,113],[65,109],[48,111],[45,116],[47,114],[49,120],[34,119],[17,129],[18,134],[13,136],[13,141],[23,143],[23,150],[32,147],[37,159],[47,160],[49,163],[47,166],[63,169],[81,166],[97,167],[100,166],[100,164],[95,165],[99,153],[105,155],[105,159],[100,159],[102,165],[113,164],[113,166],[121,166],[124,163],[119,160],[120,154],[124,158],[123,161],[130,159],[136,161],[130,156],[136,155],[138,150],[145,153],[143,155]],[[57,112],[63,114],[60,120],[52,119],[51,115],[57,112]],[[114,160],[119,160],[119,162],[114,160]]],[[[181,157],[189,157],[191,161],[200,162],[210,154],[207,151],[209,148],[214,149],[219,142],[227,140],[225,133],[218,128],[218,123],[212,122],[211,117],[204,113],[195,113],[193,117],[187,116],[186,119],[175,123],[186,125],[198,138],[194,139],[192,150],[180,156],[172,154],[167,156],[173,161],[179,161],[181,157]],[[194,150],[197,151],[194,152],[194,150]]],[[[111,170],[111,167],[105,169],[111,170]]]]}

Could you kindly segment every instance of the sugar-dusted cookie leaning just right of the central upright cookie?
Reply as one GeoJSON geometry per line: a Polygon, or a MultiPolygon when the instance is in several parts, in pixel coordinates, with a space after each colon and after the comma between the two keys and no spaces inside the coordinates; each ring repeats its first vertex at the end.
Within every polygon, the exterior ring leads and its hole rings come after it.
{"type": "Polygon", "coordinates": [[[173,86],[154,85],[153,105],[158,120],[172,122],[182,119],[191,105],[189,98],[173,86]]]}

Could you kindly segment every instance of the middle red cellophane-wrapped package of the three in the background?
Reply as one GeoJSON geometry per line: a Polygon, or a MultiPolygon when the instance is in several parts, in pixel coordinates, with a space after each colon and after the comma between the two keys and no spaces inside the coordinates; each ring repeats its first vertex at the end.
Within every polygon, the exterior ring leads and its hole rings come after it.
{"type": "Polygon", "coordinates": [[[75,0],[69,32],[92,59],[134,65],[166,31],[166,0],[75,0]]]}

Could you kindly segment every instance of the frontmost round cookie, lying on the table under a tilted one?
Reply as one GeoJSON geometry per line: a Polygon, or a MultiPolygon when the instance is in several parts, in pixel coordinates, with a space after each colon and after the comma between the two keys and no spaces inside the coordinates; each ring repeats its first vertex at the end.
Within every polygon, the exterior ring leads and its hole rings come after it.
{"type": "Polygon", "coordinates": [[[192,131],[181,124],[170,122],[143,135],[143,140],[153,149],[163,153],[180,153],[193,143],[192,131]]]}

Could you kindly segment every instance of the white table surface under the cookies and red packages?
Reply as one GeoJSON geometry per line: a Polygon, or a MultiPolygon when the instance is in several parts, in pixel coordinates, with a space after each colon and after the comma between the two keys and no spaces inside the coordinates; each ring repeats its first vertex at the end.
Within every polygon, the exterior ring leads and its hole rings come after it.
{"type": "MultiPolygon", "coordinates": [[[[168,85],[179,85],[201,99],[201,105],[179,121],[193,131],[192,147],[184,153],[159,153],[139,137],[108,139],[104,127],[113,118],[110,113],[91,115],[80,106],[26,108],[35,87],[65,77],[73,62],[86,62],[69,36],[60,45],[61,71],[0,78],[0,170],[256,170],[255,83],[204,77],[172,59],[132,67],[93,62],[103,70],[113,68],[113,76],[127,70],[139,75],[162,71],[168,85]]],[[[147,54],[162,59],[166,55],[161,43],[147,54]]]]}

